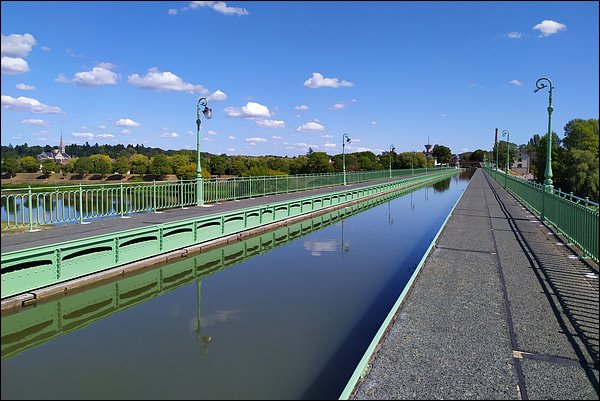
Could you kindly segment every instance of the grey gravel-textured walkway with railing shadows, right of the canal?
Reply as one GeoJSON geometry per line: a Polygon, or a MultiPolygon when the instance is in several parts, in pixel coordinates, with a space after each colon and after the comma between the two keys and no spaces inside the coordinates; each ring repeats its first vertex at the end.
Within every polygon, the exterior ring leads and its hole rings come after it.
{"type": "Polygon", "coordinates": [[[598,266],[478,170],[351,399],[598,400],[598,266]]]}

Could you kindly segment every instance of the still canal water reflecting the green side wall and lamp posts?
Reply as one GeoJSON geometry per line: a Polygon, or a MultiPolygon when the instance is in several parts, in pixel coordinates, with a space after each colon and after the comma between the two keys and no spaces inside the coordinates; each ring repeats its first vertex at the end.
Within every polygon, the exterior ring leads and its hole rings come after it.
{"type": "Polygon", "coordinates": [[[466,171],[2,316],[2,399],[334,399],[466,171]]]}

